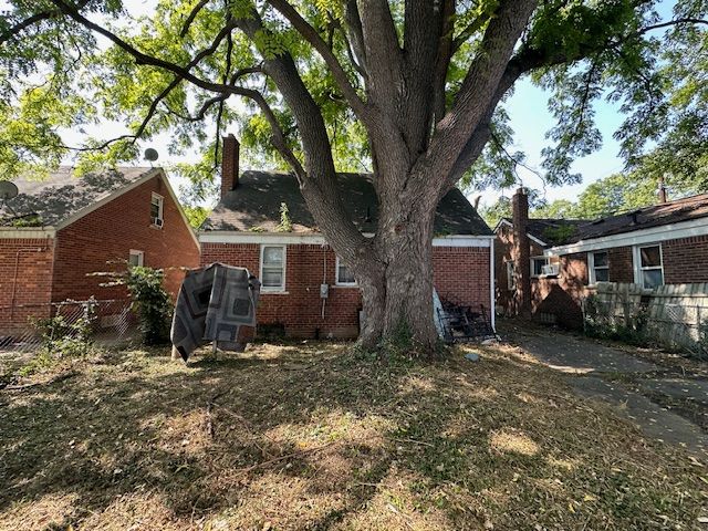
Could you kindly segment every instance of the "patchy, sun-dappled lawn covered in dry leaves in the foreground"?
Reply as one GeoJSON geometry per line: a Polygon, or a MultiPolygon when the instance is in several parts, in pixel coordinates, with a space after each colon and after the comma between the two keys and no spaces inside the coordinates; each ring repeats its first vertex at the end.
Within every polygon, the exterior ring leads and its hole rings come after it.
{"type": "Polygon", "coordinates": [[[705,464],[478,351],[135,351],[6,388],[0,529],[700,529],[705,464]]]}

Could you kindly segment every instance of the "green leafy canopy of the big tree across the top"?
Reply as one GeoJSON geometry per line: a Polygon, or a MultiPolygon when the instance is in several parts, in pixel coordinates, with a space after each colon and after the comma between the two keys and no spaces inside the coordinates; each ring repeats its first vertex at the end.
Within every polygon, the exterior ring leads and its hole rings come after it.
{"type": "MultiPolygon", "coordinates": [[[[202,153],[202,160],[176,169],[204,195],[217,167],[219,135],[233,125],[242,143],[258,148],[244,153],[291,169],[292,160],[271,142],[272,126],[280,129],[281,147],[301,162],[302,139],[263,70],[263,60],[282,52],[293,58],[321,108],[337,169],[372,169],[366,131],[352,108],[372,83],[361,50],[357,55],[355,2],[158,0],[149,15],[136,19],[121,0],[9,3],[0,20],[0,175],[6,178],[46,170],[66,157],[75,157],[80,170],[134,160],[136,137],[168,132],[171,154],[202,153]],[[248,30],[239,18],[258,21],[259,28],[248,30]],[[232,96],[244,101],[225,104],[232,96]],[[121,122],[128,132],[119,138],[93,135],[80,146],[62,142],[66,129],[104,121],[121,122]]],[[[449,41],[442,93],[436,96],[440,114],[455,101],[501,3],[440,3],[449,41]]],[[[572,160],[600,146],[592,105],[598,97],[620,102],[627,115],[615,136],[629,168],[708,179],[702,30],[708,8],[698,0],[678,1],[673,18],[660,20],[658,4],[556,0],[535,9],[514,58],[522,69],[514,77],[529,73],[553,93],[549,105],[558,123],[543,154],[549,184],[579,181],[572,160]]],[[[405,48],[406,4],[388,7],[393,38],[405,48]]],[[[524,155],[512,152],[508,122],[502,104],[482,156],[465,168],[466,185],[502,187],[518,179],[514,169],[524,155]]]]}

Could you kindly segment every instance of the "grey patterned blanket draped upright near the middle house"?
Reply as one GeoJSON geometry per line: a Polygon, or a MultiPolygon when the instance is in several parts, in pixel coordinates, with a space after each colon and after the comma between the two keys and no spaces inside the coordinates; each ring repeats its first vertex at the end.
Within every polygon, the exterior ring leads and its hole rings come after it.
{"type": "Polygon", "coordinates": [[[223,350],[241,351],[241,326],[256,326],[260,282],[248,269],[222,263],[187,273],[175,306],[170,339],[187,361],[200,345],[216,342],[223,350]]]}

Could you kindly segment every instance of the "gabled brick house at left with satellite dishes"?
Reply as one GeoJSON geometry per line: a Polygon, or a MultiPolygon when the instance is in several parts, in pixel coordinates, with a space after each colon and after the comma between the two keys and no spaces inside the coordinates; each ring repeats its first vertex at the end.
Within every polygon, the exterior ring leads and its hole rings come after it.
{"type": "Polygon", "coordinates": [[[88,273],[125,261],[164,268],[176,294],[199,264],[199,244],[162,168],[118,168],[73,177],[62,167],[43,180],[17,180],[0,204],[0,335],[45,316],[66,299],[127,299],[88,273]]]}

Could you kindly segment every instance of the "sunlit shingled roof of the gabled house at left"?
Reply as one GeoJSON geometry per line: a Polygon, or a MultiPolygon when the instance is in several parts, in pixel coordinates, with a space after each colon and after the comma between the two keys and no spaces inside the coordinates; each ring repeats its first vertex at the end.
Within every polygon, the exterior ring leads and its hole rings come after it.
{"type": "Polygon", "coordinates": [[[0,204],[0,226],[14,226],[19,219],[31,217],[34,226],[56,227],[156,169],[119,167],[74,177],[73,168],[62,166],[42,180],[13,180],[20,192],[7,205],[0,204]]]}

